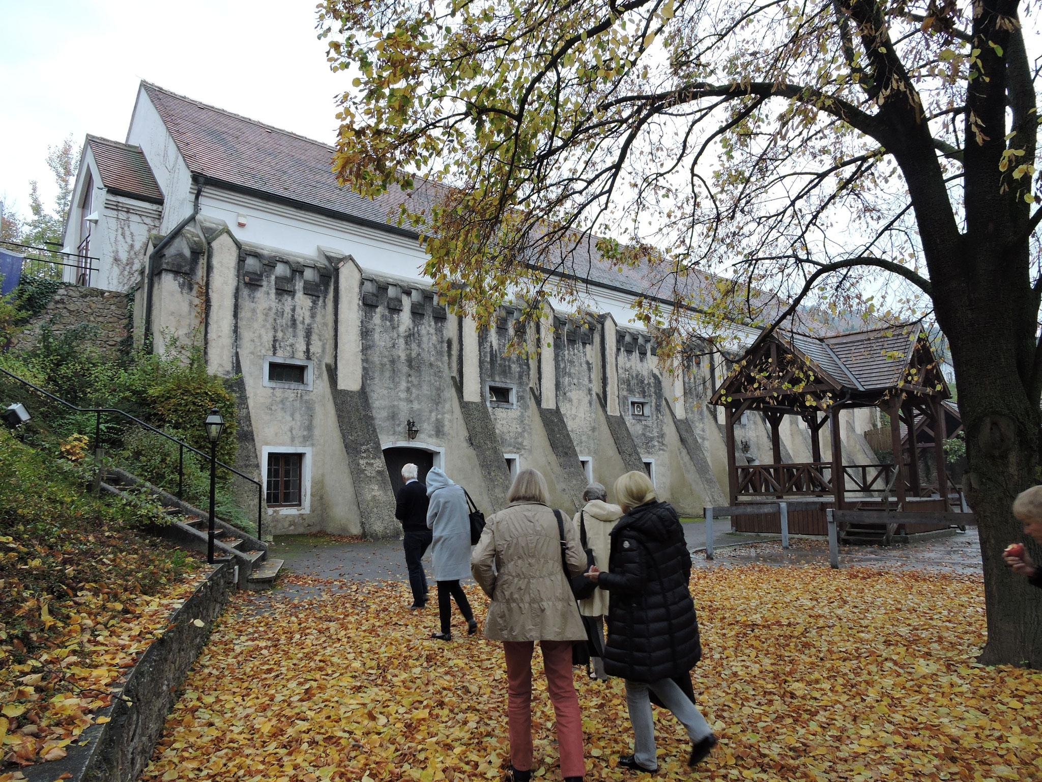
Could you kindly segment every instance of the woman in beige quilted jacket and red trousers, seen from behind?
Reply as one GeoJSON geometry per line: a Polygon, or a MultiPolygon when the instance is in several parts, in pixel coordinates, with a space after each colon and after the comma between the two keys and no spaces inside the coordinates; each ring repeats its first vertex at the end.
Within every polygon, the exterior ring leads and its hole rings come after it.
{"type": "Polygon", "coordinates": [[[586,555],[575,528],[550,509],[546,482],[537,470],[518,472],[506,498],[510,507],[486,523],[470,569],[492,598],[485,637],[502,641],[506,657],[507,779],[531,779],[531,655],[539,641],[556,717],[561,776],[566,782],[579,782],[586,764],[582,719],[572,681],[572,643],[586,640],[586,631],[565,577],[561,532],[570,576],[586,569],[586,555]]]}

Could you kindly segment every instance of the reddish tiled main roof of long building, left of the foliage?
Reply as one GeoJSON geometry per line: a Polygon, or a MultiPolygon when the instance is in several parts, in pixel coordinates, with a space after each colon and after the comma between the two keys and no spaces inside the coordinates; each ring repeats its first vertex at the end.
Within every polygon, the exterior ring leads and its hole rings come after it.
{"type": "Polygon", "coordinates": [[[142,87],[193,173],[388,228],[388,218],[397,218],[404,200],[416,212],[426,211],[431,201],[433,188],[425,182],[418,184],[411,193],[393,190],[376,199],[364,198],[337,181],[332,172],[336,149],[328,144],[191,100],[147,81],[142,87]]]}

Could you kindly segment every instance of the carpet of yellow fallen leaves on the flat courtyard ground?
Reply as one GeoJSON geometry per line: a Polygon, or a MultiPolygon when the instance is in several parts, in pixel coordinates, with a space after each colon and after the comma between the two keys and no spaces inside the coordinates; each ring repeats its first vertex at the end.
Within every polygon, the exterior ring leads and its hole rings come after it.
{"type": "MultiPolygon", "coordinates": [[[[430,639],[437,611],[407,611],[404,584],[288,581],[225,611],[144,779],[501,775],[500,644],[466,636],[458,614],[457,640],[430,639]]],[[[985,639],[979,578],[748,565],[696,570],[692,592],[704,650],[695,692],[721,740],[692,772],[683,728],[656,710],[660,777],[1042,777],[1042,673],[973,662],[985,639]]],[[[481,618],[485,597],[468,593],[481,618]]],[[[534,773],[560,779],[538,657],[534,773]]],[[[622,682],[575,680],[587,778],[628,778],[616,765],[631,751],[622,682]]]]}

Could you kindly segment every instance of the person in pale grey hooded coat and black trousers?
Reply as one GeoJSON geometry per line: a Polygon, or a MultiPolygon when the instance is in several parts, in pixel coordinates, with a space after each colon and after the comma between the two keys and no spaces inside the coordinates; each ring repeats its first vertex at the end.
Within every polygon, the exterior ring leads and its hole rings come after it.
{"type": "Polygon", "coordinates": [[[470,576],[470,515],[467,495],[463,487],[449,480],[438,467],[427,472],[427,529],[431,531],[430,559],[438,582],[438,614],[441,632],[431,638],[452,640],[452,598],[460,613],[467,620],[467,633],[477,632],[474,612],[470,610],[467,594],[460,586],[460,579],[470,576]]]}

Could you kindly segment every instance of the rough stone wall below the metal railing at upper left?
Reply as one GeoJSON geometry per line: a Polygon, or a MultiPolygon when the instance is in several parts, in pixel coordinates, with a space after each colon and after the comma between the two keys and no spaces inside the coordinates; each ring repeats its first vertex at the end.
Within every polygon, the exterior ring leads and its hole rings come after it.
{"type": "Polygon", "coordinates": [[[15,340],[21,349],[31,349],[40,342],[44,326],[60,336],[80,323],[91,323],[99,329],[91,345],[105,353],[116,353],[125,344],[130,329],[130,294],[63,285],[47,302],[44,311],[29,321],[15,340]]]}

